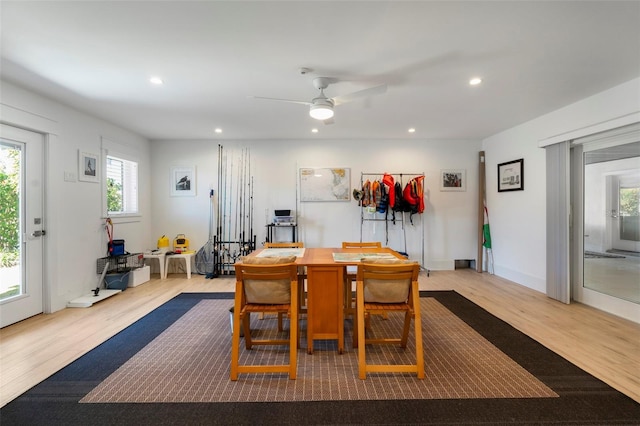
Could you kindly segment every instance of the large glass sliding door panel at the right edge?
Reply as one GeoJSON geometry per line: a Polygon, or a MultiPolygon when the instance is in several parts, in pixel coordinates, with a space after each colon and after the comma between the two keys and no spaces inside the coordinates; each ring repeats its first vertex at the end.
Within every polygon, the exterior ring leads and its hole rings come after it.
{"type": "Polygon", "coordinates": [[[640,142],[584,150],[583,286],[640,303],[640,142]]]}

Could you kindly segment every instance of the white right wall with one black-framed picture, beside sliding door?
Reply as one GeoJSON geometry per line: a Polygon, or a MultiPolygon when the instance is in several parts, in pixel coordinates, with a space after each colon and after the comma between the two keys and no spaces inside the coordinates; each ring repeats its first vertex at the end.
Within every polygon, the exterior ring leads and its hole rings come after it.
{"type": "Polygon", "coordinates": [[[640,78],[483,141],[496,275],[545,292],[545,152],[539,141],[640,111],[640,78]],[[498,193],[497,165],[524,158],[524,191],[498,193]]]}

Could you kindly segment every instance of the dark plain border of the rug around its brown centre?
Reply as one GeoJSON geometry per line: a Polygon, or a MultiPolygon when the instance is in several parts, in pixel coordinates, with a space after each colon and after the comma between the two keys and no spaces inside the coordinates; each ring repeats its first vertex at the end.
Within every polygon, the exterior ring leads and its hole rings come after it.
{"type": "MultiPolygon", "coordinates": [[[[640,404],[455,292],[421,292],[552,389],[550,398],[304,402],[80,403],[203,299],[183,293],[0,410],[2,425],[424,424],[637,425],[640,404]]],[[[425,348],[428,353],[428,348],[425,348]]]]}

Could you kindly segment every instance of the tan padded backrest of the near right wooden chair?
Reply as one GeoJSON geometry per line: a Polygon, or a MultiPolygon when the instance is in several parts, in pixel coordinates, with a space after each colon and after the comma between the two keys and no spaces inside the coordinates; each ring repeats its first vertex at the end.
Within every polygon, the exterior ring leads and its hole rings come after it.
{"type": "Polygon", "coordinates": [[[366,303],[405,303],[410,299],[411,283],[417,283],[419,273],[417,262],[361,263],[356,281],[364,284],[366,303]]]}

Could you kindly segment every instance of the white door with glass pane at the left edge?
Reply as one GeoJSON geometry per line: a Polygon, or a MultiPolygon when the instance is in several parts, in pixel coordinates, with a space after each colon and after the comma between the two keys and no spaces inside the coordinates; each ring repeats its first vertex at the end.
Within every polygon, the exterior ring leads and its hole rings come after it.
{"type": "Polygon", "coordinates": [[[0,327],[43,312],[43,151],[42,134],[0,125],[0,327]]]}

